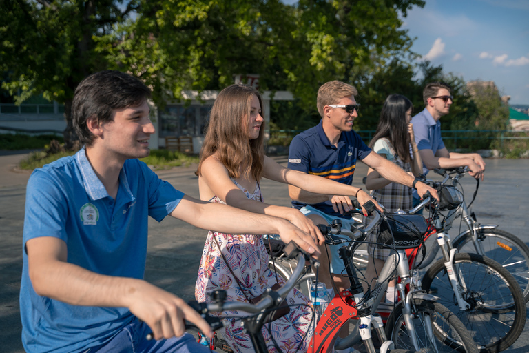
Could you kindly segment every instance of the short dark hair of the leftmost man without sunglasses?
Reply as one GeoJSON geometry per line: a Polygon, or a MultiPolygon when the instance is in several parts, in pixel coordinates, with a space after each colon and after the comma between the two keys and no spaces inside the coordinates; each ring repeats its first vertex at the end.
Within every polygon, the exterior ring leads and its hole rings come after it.
{"type": "Polygon", "coordinates": [[[100,123],[112,121],[114,110],[136,107],[151,97],[147,86],[124,72],[106,70],[91,74],[77,86],[72,101],[72,119],[81,144],[90,146],[95,136],[87,128],[87,119],[100,123]]]}

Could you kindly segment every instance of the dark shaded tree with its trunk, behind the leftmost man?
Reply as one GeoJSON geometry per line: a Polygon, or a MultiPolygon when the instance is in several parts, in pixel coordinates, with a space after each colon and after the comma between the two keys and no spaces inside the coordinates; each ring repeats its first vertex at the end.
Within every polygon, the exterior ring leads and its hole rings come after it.
{"type": "Polygon", "coordinates": [[[96,39],[112,32],[138,10],[138,1],[2,0],[0,69],[2,87],[22,103],[34,94],[65,105],[65,147],[77,140],[72,126],[76,86],[88,74],[105,70],[96,39]],[[20,94],[18,94],[20,92],[20,94]]]}

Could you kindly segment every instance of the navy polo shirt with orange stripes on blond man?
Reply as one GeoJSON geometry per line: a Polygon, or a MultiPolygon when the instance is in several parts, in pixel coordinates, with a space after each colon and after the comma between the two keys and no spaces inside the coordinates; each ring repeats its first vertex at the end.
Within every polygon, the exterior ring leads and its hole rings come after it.
{"type": "MultiPolygon", "coordinates": [[[[323,121],[292,139],[289,148],[289,168],[318,175],[338,183],[351,185],[357,160],[366,158],[371,148],[353,130],[342,132],[338,146],[332,145],[323,130],[323,121]]],[[[302,208],[305,203],[292,201],[292,207],[302,208]]],[[[334,212],[331,201],[315,203],[313,208],[331,216],[344,217],[334,212]]]]}

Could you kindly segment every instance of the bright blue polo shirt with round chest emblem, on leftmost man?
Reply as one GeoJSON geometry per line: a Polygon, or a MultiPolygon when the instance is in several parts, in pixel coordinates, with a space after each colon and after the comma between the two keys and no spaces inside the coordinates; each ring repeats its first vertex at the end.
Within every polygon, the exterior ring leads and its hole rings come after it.
{"type": "Polygon", "coordinates": [[[107,194],[85,149],[39,168],[25,201],[20,312],[28,352],[83,352],[103,345],[134,316],[125,307],[86,307],[34,292],[25,243],[54,236],[68,245],[68,262],[109,276],[143,279],[147,219],[161,221],[183,193],[158,179],[145,163],[125,161],[114,200],[107,194]]]}

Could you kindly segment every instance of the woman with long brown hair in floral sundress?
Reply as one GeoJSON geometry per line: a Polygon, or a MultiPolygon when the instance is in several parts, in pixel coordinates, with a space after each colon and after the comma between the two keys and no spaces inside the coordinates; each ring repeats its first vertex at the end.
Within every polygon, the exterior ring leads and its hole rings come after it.
{"type": "MultiPolygon", "coordinates": [[[[354,196],[358,188],[289,170],[264,156],[261,107],[260,94],[248,85],[231,85],[218,94],[196,172],[200,199],[287,219],[322,244],[324,239],[318,228],[299,210],[263,202],[261,177],[322,194],[354,196]]],[[[359,198],[361,204],[371,199],[364,192],[359,198]]],[[[210,231],[200,261],[196,299],[209,302],[208,294],[220,288],[227,291],[227,301],[246,302],[275,283],[282,285],[282,279],[276,279],[268,263],[262,235],[210,231]]],[[[313,333],[311,303],[295,289],[286,301],[291,305],[289,314],[264,325],[264,340],[269,352],[278,352],[277,348],[280,352],[306,352],[313,333]]],[[[247,313],[218,314],[229,321],[223,334],[234,352],[254,352],[249,335],[240,325],[240,316],[247,313]]]]}

